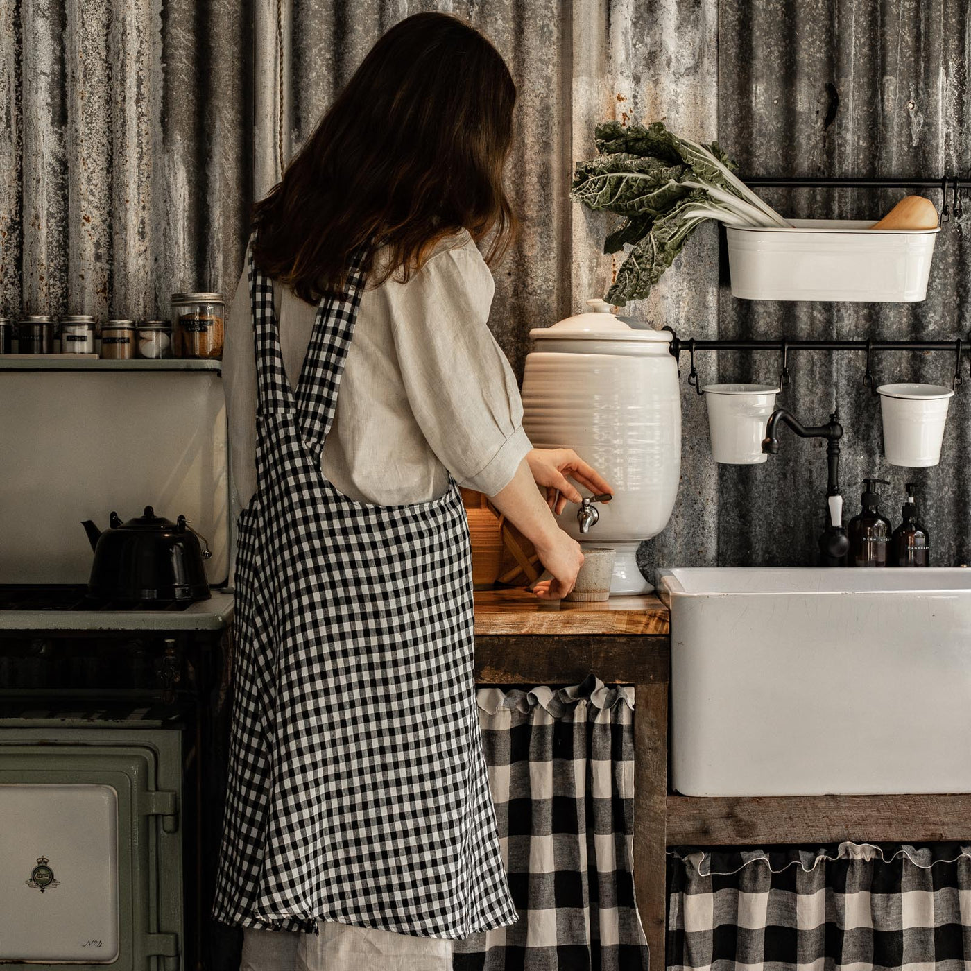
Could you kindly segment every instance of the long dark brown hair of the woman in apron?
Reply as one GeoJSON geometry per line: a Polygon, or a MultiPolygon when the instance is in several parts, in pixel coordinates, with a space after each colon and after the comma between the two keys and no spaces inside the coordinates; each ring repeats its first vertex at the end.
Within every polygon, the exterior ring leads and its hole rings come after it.
{"type": "Polygon", "coordinates": [[[478,30],[449,14],[402,20],[256,204],[257,265],[316,302],[343,288],[358,248],[373,284],[408,280],[463,228],[477,243],[492,234],[493,264],[516,228],[502,184],[515,103],[509,69],[478,30]]]}

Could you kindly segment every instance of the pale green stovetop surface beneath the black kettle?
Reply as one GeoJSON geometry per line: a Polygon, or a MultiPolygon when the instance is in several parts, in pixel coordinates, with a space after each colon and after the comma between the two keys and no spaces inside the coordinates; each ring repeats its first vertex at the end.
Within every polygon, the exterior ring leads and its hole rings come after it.
{"type": "Polygon", "coordinates": [[[0,630],[219,630],[233,594],[209,600],[128,603],[89,599],[85,586],[0,585],[0,630]]]}

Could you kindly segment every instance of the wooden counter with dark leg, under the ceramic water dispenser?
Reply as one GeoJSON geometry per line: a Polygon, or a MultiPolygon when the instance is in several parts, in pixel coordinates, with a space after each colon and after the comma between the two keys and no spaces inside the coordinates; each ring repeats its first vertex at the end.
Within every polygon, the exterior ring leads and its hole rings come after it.
{"type": "Polygon", "coordinates": [[[591,672],[634,686],[634,884],[654,968],[667,913],[668,609],[650,596],[541,609],[528,590],[476,593],[480,684],[577,684],[591,672]]]}

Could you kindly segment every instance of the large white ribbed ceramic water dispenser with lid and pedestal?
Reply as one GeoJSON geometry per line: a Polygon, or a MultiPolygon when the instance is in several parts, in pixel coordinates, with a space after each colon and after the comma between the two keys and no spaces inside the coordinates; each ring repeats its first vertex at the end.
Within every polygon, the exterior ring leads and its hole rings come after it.
{"type": "Polygon", "coordinates": [[[644,593],[652,586],[637,547],[667,525],[681,476],[678,364],[670,332],[616,317],[603,300],[587,306],[529,332],[536,350],[522,378],[522,426],[536,448],[574,449],[614,487],[589,532],[575,515],[562,525],[616,551],[612,593],[644,593]]]}

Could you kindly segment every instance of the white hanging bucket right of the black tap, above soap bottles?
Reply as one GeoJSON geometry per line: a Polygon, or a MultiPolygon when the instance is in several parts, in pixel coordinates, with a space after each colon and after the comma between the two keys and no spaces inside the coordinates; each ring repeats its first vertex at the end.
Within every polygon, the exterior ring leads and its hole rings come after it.
{"type": "Polygon", "coordinates": [[[954,391],[943,385],[880,385],[884,455],[889,465],[926,468],[941,460],[954,391]]]}

